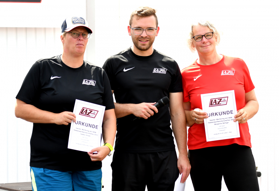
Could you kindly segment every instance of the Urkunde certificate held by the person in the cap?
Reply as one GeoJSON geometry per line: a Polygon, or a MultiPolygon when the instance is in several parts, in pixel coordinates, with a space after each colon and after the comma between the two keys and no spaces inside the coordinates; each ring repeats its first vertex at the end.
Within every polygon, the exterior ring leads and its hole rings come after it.
{"type": "Polygon", "coordinates": [[[76,99],[71,123],[68,149],[88,152],[101,146],[102,123],[105,106],[76,99]]]}

